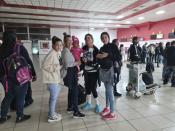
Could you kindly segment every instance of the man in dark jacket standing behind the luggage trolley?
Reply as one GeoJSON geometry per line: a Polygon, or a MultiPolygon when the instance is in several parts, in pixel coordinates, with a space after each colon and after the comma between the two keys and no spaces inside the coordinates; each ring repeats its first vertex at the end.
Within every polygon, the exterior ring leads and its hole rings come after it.
{"type": "Polygon", "coordinates": [[[130,46],[129,49],[130,60],[131,62],[138,63],[141,60],[141,52],[138,47],[138,37],[133,37],[132,43],[133,44],[130,46]]]}

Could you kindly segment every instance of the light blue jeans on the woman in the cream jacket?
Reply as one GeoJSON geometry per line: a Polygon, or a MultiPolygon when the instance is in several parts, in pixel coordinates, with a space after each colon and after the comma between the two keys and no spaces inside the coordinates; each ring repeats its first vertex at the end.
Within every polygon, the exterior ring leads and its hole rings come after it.
{"type": "Polygon", "coordinates": [[[50,92],[49,98],[49,117],[53,117],[55,113],[57,97],[61,90],[61,85],[56,83],[47,84],[48,91],[50,92]]]}

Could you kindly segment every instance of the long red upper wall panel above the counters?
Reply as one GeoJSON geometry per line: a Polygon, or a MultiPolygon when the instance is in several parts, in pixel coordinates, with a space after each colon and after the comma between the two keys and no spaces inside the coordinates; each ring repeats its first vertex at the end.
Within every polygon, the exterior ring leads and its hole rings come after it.
{"type": "Polygon", "coordinates": [[[159,21],[148,22],[140,25],[135,25],[130,28],[120,28],[117,30],[117,38],[131,38],[131,36],[144,37],[145,40],[150,40],[150,35],[159,32],[164,34],[164,39],[168,38],[168,33],[175,29],[175,18],[159,21]]]}

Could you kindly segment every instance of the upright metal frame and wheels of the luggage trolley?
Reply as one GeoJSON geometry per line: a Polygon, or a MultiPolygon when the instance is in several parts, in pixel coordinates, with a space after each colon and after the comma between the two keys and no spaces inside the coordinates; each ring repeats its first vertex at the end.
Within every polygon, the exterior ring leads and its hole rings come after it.
{"type": "Polygon", "coordinates": [[[139,75],[142,69],[142,65],[138,63],[130,63],[127,64],[127,68],[129,69],[129,82],[126,87],[127,95],[133,96],[134,98],[140,98],[142,93],[140,91],[140,81],[139,75]]]}

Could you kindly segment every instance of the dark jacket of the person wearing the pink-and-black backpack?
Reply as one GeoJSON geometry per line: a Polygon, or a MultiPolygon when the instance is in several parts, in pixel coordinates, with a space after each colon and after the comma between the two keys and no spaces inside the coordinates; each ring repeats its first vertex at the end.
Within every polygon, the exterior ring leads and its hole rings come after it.
{"type": "MultiPolygon", "coordinates": [[[[23,45],[19,45],[19,46],[20,46],[20,55],[23,56],[26,59],[27,63],[30,65],[31,71],[32,71],[32,76],[36,76],[33,63],[32,63],[32,61],[30,59],[30,56],[29,56],[26,48],[23,45]]],[[[4,71],[4,67],[3,67],[4,59],[9,57],[13,53],[14,53],[14,49],[13,48],[9,49],[7,52],[2,53],[2,55],[0,57],[0,77],[3,77],[5,75],[5,71],[4,71]]]]}

